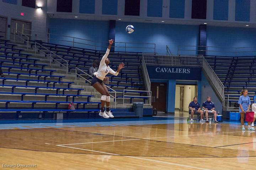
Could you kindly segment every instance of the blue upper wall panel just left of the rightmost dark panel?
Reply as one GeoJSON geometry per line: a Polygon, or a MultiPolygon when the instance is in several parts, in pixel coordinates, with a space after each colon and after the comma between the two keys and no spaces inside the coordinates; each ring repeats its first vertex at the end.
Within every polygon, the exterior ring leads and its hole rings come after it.
{"type": "Polygon", "coordinates": [[[170,0],[170,18],[184,18],[185,0],[170,0]]]}

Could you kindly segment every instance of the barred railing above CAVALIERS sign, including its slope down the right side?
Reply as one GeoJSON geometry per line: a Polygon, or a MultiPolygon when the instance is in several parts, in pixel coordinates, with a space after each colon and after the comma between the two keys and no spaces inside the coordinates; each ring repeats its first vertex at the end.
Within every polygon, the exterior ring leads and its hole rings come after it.
{"type": "Polygon", "coordinates": [[[202,55],[170,56],[164,54],[143,54],[143,61],[145,61],[146,65],[202,67],[215,87],[216,92],[219,94],[219,97],[222,99],[222,102],[224,102],[224,85],[202,55]]]}

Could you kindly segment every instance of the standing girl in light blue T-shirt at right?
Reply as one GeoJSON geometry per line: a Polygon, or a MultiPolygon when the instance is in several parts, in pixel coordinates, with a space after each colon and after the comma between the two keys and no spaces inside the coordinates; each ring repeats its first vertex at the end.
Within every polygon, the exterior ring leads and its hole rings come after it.
{"type": "MultiPolygon", "coordinates": [[[[251,101],[249,96],[247,96],[248,94],[248,90],[247,89],[242,89],[241,93],[240,93],[240,97],[238,100],[238,104],[239,104],[239,112],[241,115],[241,125],[242,125],[242,130],[245,130],[244,127],[244,114],[245,112],[249,112],[250,110],[250,105],[251,105],[251,101]]],[[[249,131],[255,131],[255,128],[251,127],[251,122],[248,122],[248,130],[249,131]]]]}

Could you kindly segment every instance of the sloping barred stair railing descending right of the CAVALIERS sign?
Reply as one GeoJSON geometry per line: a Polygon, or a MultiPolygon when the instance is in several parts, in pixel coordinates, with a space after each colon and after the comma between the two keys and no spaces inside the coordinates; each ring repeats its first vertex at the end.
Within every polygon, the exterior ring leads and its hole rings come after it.
{"type": "Polygon", "coordinates": [[[222,99],[222,102],[224,102],[224,85],[204,57],[203,69],[206,72],[206,75],[209,77],[210,81],[213,83],[213,86],[216,88],[216,91],[222,99]]]}

